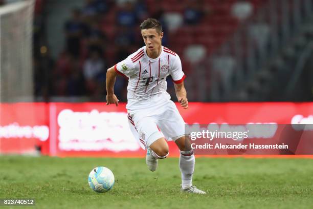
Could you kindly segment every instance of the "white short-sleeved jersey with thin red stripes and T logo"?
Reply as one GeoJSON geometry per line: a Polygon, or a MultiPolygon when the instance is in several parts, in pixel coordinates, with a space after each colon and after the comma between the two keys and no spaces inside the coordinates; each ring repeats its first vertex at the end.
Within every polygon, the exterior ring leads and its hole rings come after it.
{"type": "Polygon", "coordinates": [[[144,46],[114,68],[119,74],[128,77],[126,108],[130,111],[150,107],[151,102],[154,104],[170,99],[166,92],[168,75],[172,76],[175,83],[185,79],[180,57],[163,46],[158,58],[148,57],[144,46]]]}

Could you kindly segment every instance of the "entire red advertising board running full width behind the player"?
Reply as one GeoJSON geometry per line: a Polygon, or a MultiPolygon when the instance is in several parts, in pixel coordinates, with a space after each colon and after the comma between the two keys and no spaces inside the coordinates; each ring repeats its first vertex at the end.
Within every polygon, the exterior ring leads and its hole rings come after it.
{"type": "MultiPolygon", "coordinates": [[[[0,153],[52,156],[144,156],[127,122],[125,103],[0,104],[0,153]],[[49,137],[48,137],[49,136],[49,137]]],[[[190,102],[177,105],[188,124],[312,124],[313,102],[190,102]]],[[[170,156],[178,156],[169,142],[170,156]]]]}

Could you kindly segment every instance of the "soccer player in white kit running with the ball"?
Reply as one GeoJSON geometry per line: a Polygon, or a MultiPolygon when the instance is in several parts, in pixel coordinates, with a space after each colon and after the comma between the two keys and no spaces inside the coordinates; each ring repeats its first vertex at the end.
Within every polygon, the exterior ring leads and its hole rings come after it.
{"type": "Polygon", "coordinates": [[[141,147],[147,149],[146,163],[149,170],[155,171],[158,159],[168,156],[169,148],[165,138],[173,140],[181,152],[181,191],[206,194],[192,185],[195,163],[193,150],[189,139],[185,138],[185,122],[166,92],[166,77],[171,75],[178,102],[184,109],[188,108],[185,74],[180,57],[162,46],[162,25],[157,19],[144,20],[140,29],[146,46],[107,70],[106,105],[118,106],[119,100],[114,94],[116,76],[121,74],[128,77],[128,121],[141,147]]]}

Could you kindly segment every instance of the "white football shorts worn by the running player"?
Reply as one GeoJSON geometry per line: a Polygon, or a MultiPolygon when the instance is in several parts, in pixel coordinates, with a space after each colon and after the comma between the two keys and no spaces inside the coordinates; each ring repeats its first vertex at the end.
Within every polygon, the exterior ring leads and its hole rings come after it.
{"type": "Polygon", "coordinates": [[[151,108],[128,111],[128,122],[143,149],[160,138],[175,141],[185,135],[184,119],[169,99],[151,108]]]}

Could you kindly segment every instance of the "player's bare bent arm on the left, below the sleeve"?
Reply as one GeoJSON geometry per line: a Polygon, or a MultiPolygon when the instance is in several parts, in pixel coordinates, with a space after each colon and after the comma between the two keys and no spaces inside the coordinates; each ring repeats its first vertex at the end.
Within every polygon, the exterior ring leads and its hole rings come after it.
{"type": "Polygon", "coordinates": [[[114,66],[106,71],[106,105],[115,104],[116,107],[119,105],[119,100],[114,94],[114,84],[117,75],[114,66]]]}

